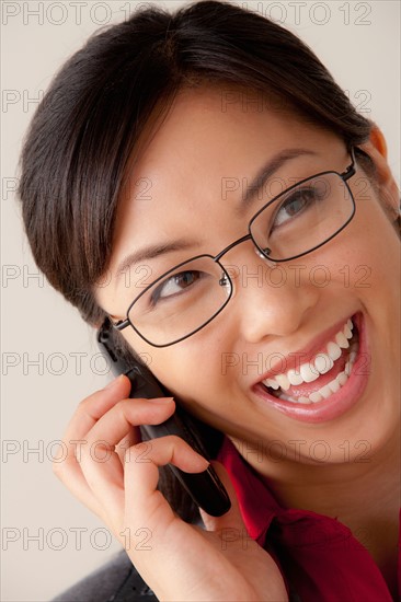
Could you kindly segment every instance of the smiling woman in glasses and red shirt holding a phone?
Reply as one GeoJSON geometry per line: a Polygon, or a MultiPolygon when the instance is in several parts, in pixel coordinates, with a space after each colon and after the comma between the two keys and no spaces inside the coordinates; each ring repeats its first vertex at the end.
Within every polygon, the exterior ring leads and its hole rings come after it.
{"type": "Polygon", "coordinates": [[[314,55],[228,3],[145,10],[58,74],[20,196],[53,286],[208,426],[232,508],[205,528],[157,486],[208,462],[140,442],[171,397],[129,400],[121,377],[65,435],[58,476],[156,597],[396,600],[399,193],[314,55]]]}

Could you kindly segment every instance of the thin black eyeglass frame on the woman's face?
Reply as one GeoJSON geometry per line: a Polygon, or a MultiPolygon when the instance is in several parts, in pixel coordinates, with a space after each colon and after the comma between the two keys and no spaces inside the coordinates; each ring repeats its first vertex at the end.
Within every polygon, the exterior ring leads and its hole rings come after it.
{"type": "MultiPolygon", "coordinates": [[[[162,348],[162,347],[170,347],[171,345],[175,345],[176,343],[180,343],[181,340],[184,340],[185,338],[188,338],[190,336],[194,335],[195,333],[197,333],[198,331],[200,331],[202,328],[204,328],[205,326],[207,326],[207,324],[209,324],[227,305],[227,303],[230,301],[231,297],[232,297],[232,291],[233,291],[233,285],[232,285],[232,280],[227,271],[227,269],[224,267],[222,264],[220,264],[220,259],[224,255],[226,255],[226,253],[228,253],[229,251],[231,251],[231,248],[233,248],[234,246],[237,246],[238,244],[241,244],[245,241],[249,241],[249,240],[252,240],[254,246],[257,248],[259,253],[267,261],[272,261],[274,262],[274,264],[278,264],[278,263],[284,263],[284,262],[290,262],[293,259],[298,259],[298,257],[303,257],[303,255],[308,255],[309,253],[312,253],[312,251],[316,251],[317,248],[323,246],[324,244],[326,244],[329,241],[331,241],[332,239],[334,239],[334,236],[336,236],[342,230],[344,230],[344,228],[346,228],[346,225],[348,225],[348,223],[351,222],[351,220],[353,219],[354,215],[355,215],[355,210],[356,210],[356,206],[355,206],[355,199],[354,199],[354,195],[350,188],[350,185],[347,183],[347,181],[353,176],[355,175],[356,173],[356,169],[355,169],[355,163],[356,163],[356,160],[355,160],[355,150],[353,147],[350,148],[348,150],[350,154],[351,154],[351,159],[352,159],[352,162],[351,164],[347,166],[347,169],[343,172],[343,173],[339,173],[339,172],[335,172],[333,170],[329,170],[329,171],[325,171],[325,172],[320,172],[318,174],[314,174],[314,175],[311,175],[309,177],[306,177],[303,180],[301,180],[300,182],[297,182],[296,184],[293,184],[293,186],[289,186],[288,188],[286,188],[285,190],[283,190],[282,193],[279,193],[278,195],[276,195],[274,198],[272,198],[268,202],[266,202],[261,209],[257,210],[257,212],[252,217],[252,219],[250,220],[249,224],[248,224],[248,234],[237,239],[236,241],[233,241],[231,244],[229,244],[228,246],[226,246],[222,251],[220,251],[220,253],[218,253],[217,255],[213,256],[213,255],[209,255],[209,254],[202,254],[202,255],[196,255],[195,257],[191,257],[190,259],[185,259],[185,262],[182,262],[181,264],[177,264],[175,265],[173,268],[169,269],[168,271],[165,271],[164,274],[162,274],[161,276],[159,276],[159,278],[157,278],[156,280],[153,280],[153,282],[151,282],[148,287],[146,287],[145,290],[142,290],[142,292],[140,292],[135,299],[134,301],[130,303],[130,305],[128,306],[128,310],[127,310],[127,317],[126,320],[121,320],[119,322],[116,322],[116,323],[113,323],[112,322],[112,325],[113,327],[116,329],[116,331],[123,331],[124,328],[126,328],[127,326],[131,326],[131,328],[134,328],[134,331],[137,333],[138,336],[140,336],[140,338],[142,340],[145,340],[146,343],[148,343],[149,345],[151,345],[152,347],[158,347],[158,348],[162,348]],[[252,235],[252,223],[255,221],[255,219],[270,206],[272,205],[273,202],[275,202],[277,200],[277,198],[282,197],[283,195],[289,193],[290,190],[293,190],[294,188],[297,188],[298,186],[305,184],[306,182],[308,182],[309,180],[314,180],[317,177],[320,177],[320,176],[323,176],[323,175],[328,175],[328,174],[335,174],[337,176],[341,177],[341,180],[344,182],[348,193],[350,193],[350,197],[351,197],[351,200],[352,200],[352,204],[353,204],[353,210],[351,212],[351,216],[350,218],[346,220],[346,222],[341,227],[339,228],[339,230],[336,230],[333,234],[331,234],[331,236],[329,236],[329,239],[325,239],[323,242],[319,243],[318,245],[313,246],[312,248],[309,248],[308,251],[305,251],[303,253],[299,253],[298,255],[294,255],[291,257],[286,257],[285,259],[274,259],[274,258],[271,258],[268,256],[268,253],[266,253],[266,250],[262,248],[257,242],[255,241],[255,239],[253,238],[252,235]],[[229,290],[229,293],[227,296],[227,299],[225,301],[225,303],[209,317],[209,320],[207,320],[206,322],[204,322],[200,326],[198,326],[197,328],[195,328],[195,331],[192,331],[191,333],[188,333],[187,335],[185,336],[182,336],[171,343],[164,343],[164,344],[154,344],[152,343],[151,340],[149,340],[148,338],[146,338],[145,335],[142,335],[136,327],[135,325],[131,323],[130,319],[129,319],[129,312],[131,310],[131,308],[135,305],[135,303],[138,301],[138,299],[140,299],[140,297],[142,297],[150,288],[152,288],[154,285],[157,285],[160,280],[163,280],[167,276],[169,276],[169,274],[172,274],[173,271],[175,271],[176,269],[183,267],[184,265],[186,264],[190,264],[196,259],[200,259],[203,257],[207,257],[209,259],[213,259],[218,266],[219,268],[221,269],[221,278],[220,278],[220,281],[219,283],[221,286],[229,286],[230,287],[230,290],[229,290]]],[[[363,154],[365,154],[364,151],[360,151],[363,154]]],[[[268,250],[270,251],[270,250],[268,250]]]]}

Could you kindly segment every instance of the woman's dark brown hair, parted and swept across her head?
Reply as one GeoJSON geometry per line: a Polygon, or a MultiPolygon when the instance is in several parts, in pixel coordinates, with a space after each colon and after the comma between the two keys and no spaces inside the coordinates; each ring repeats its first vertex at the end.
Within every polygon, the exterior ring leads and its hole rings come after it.
{"type": "MultiPolygon", "coordinates": [[[[151,7],[93,35],[33,118],[20,185],[37,266],[89,323],[105,316],[93,288],[107,267],[118,198],[144,128],[183,86],[219,82],[278,97],[347,146],[369,136],[370,121],[298,37],[228,2],[195,2],[173,14],[151,7]]],[[[186,499],[175,507],[187,516],[186,499]]]]}

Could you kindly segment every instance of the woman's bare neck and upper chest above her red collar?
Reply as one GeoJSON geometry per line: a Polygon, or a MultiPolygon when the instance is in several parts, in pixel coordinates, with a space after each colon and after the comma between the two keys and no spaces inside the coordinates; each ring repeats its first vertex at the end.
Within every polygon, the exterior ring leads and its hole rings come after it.
{"type": "MultiPolygon", "coordinates": [[[[233,444],[240,451],[238,441],[233,444]]],[[[243,445],[242,445],[243,449],[243,445]]],[[[248,447],[249,450],[249,447],[248,447]]],[[[318,466],[300,462],[247,461],[268,479],[268,488],[286,508],[336,518],[370,553],[390,592],[397,598],[398,523],[400,511],[400,436],[359,461],[318,466]],[[363,460],[363,461],[360,461],[363,460]],[[367,461],[366,461],[367,460],[367,461]]]]}

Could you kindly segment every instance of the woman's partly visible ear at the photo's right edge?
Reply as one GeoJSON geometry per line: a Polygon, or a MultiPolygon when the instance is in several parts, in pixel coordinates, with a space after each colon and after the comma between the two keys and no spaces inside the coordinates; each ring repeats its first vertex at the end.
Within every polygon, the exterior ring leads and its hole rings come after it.
{"type": "Polygon", "coordinates": [[[387,162],[387,143],[382,131],[374,124],[369,140],[359,146],[374,161],[376,185],[386,212],[391,221],[400,219],[400,190],[387,162]]]}

